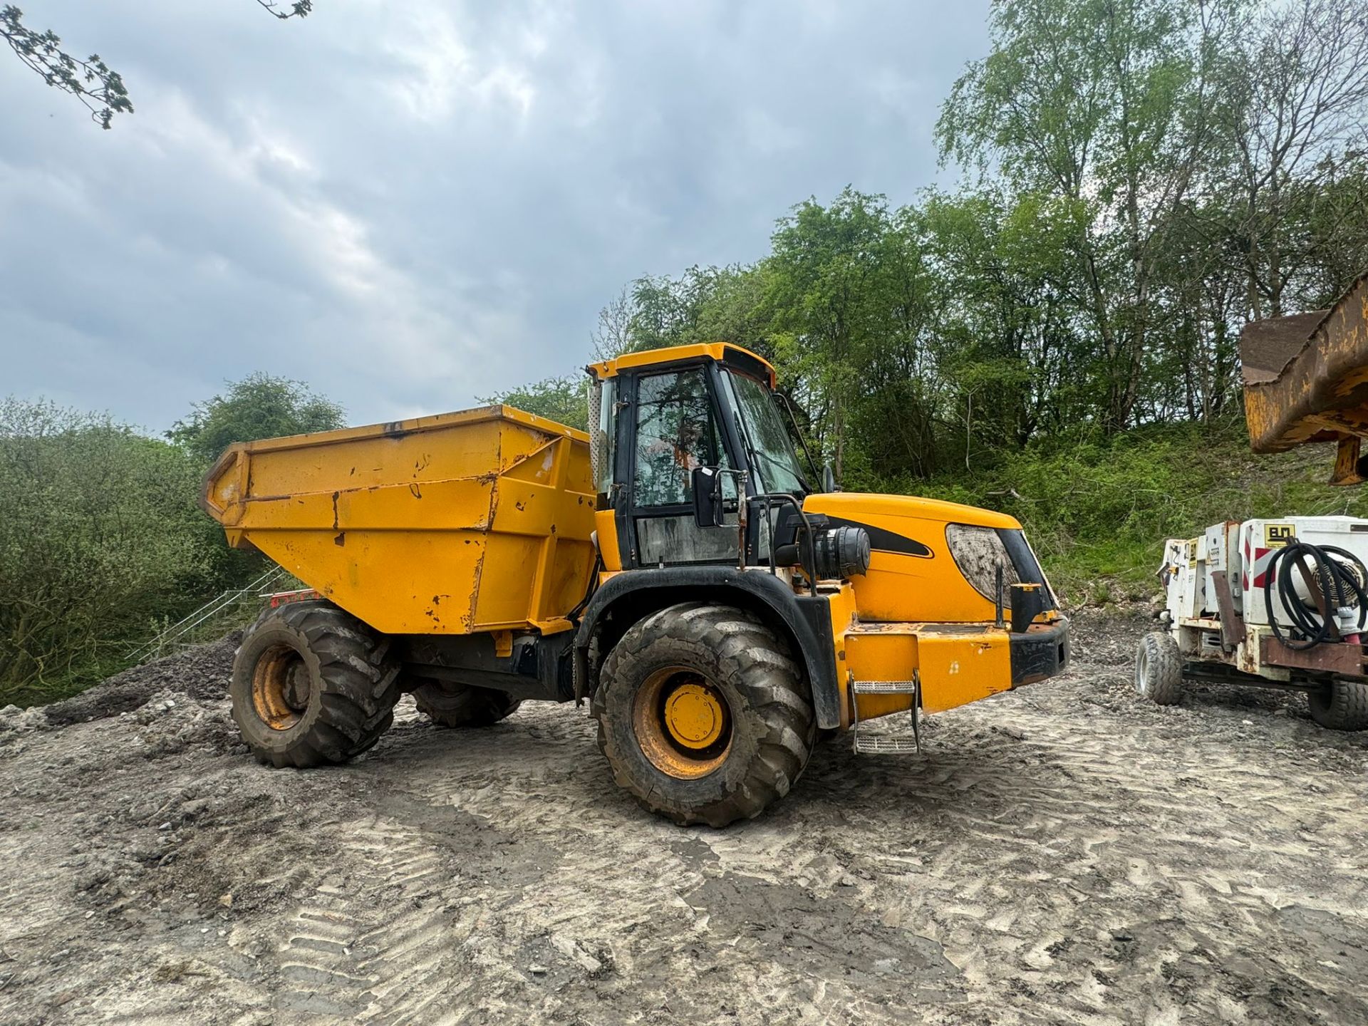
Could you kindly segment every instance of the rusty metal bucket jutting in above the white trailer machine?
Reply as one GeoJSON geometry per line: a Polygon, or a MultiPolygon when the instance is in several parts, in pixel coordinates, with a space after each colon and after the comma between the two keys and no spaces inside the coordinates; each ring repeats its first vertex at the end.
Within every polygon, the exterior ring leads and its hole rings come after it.
{"type": "Polygon", "coordinates": [[[1368,438],[1368,274],[1328,311],[1248,324],[1239,350],[1256,453],[1368,438]]]}

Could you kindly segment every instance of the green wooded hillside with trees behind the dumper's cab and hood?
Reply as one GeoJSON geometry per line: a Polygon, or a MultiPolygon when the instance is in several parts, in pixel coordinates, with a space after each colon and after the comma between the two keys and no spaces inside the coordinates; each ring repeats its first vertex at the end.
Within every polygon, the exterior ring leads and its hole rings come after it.
{"type": "MultiPolygon", "coordinates": [[[[808,198],[754,263],[629,283],[592,354],[766,356],[844,487],[1011,512],[1075,601],[1148,594],[1168,535],[1360,510],[1328,451],[1249,451],[1238,339],[1368,269],[1368,7],[1019,0],[989,26],[936,126],[958,187],[808,198]]],[[[495,398],[583,427],[581,394],[495,398]]]]}

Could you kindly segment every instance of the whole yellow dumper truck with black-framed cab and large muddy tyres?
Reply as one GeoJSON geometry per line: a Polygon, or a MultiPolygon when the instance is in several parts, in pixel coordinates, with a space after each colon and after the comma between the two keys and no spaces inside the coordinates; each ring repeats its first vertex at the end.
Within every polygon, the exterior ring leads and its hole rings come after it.
{"type": "Polygon", "coordinates": [[[343,762],[402,692],[447,726],[588,699],[621,787],[722,826],[785,795],[818,737],[910,751],[919,711],[1066,665],[1021,524],[834,491],[754,353],[588,371],[588,435],[490,406],[219,458],[204,508],[317,592],[238,650],[233,713],[257,758],[343,762]],[[912,735],[863,729],[891,713],[912,735]]]}

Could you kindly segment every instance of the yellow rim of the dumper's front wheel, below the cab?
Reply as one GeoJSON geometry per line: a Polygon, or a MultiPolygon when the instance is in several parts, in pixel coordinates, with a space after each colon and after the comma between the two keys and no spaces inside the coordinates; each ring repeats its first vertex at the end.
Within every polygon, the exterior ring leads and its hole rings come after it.
{"type": "Polygon", "coordinates": [[[677,780],[706,777],[732,748],[725,695],[687,666],[657,670],[632,702],[632,732],[642,754],[677,780]]]}

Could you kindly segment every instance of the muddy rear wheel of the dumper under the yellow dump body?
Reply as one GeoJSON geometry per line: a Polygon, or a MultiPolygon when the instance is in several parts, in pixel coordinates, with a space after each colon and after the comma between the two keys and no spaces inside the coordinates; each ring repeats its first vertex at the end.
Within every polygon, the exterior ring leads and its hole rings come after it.
{"type": "Polygon", "coordinates": [[[398,661],[390,642],[328,602],[265,610],[233,661],[233,718],[272,766],[346,762],[394,720],[398,661]]]}

